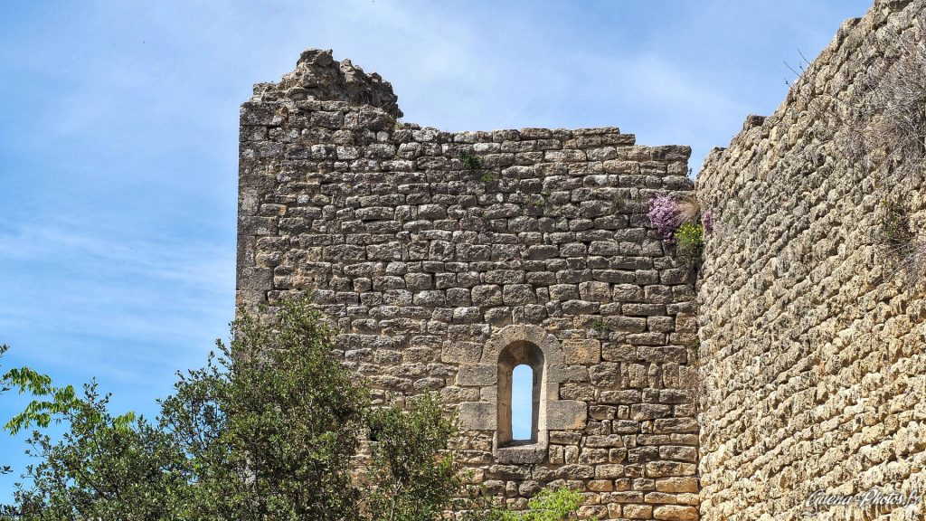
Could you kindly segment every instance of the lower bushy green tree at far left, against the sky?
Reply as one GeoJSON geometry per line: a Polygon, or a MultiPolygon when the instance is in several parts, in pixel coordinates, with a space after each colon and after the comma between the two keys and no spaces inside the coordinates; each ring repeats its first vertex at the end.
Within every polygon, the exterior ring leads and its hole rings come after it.
{"type": "Polygon", "coordinates": [[[189,489],[184,454],[143,417],[113,416],[108,401],[87,384],[59,413],[69,424],[60,440],[32,434],[27,453],[38,463],[26,470],[31,486],[15,493],[22,519],[173,518],[189,489]]]}

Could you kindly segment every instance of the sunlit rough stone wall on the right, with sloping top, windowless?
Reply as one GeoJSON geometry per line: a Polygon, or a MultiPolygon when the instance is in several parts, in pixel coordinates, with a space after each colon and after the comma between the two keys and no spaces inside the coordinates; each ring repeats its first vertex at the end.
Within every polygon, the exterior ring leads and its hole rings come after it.
{"type": "Polygon", "coordinates": [[[926,191],[862,118],[902,42],[922,44],[924,9],[883,1],[847,21],[697,177],[718,222],[698,290],[703,519],[800,519],[817,489],[926,489],[922,274],[884,248],[883,222],[883,201],[903,197],[919,234],[926,191]]]}

